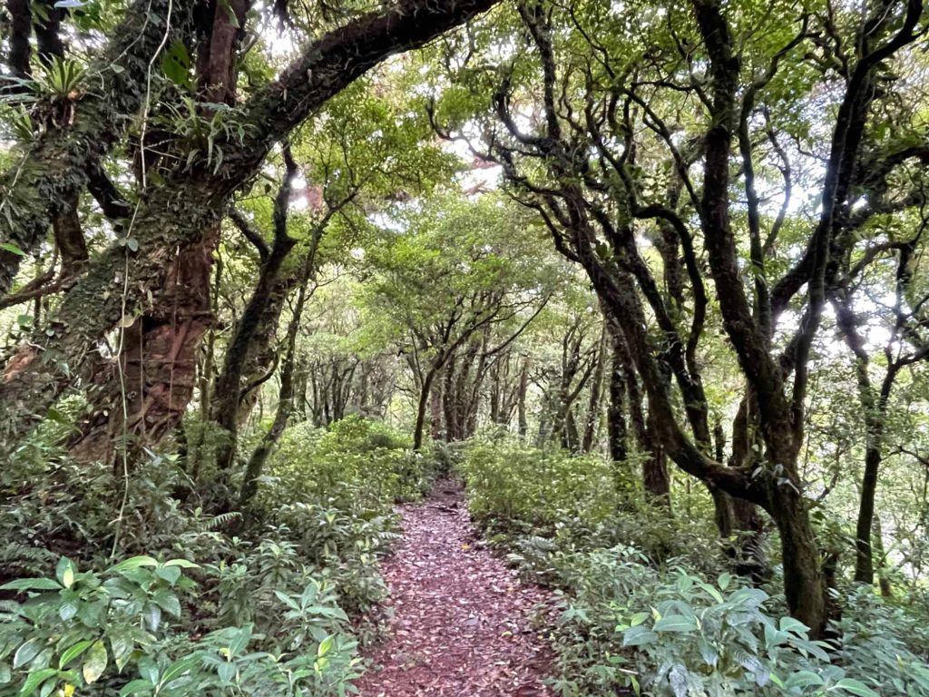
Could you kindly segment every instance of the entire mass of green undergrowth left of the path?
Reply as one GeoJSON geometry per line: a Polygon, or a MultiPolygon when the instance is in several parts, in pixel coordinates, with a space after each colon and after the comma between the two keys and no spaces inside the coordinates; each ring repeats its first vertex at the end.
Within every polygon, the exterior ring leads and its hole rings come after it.
{"type": "Polygon", "coordinates": [[[0,472],[0,697],[354,690],[392,506],[429,488],[435,458],[360,418],[295,424],[255,504],[216,514],[196,492],[222,484],[183,453],[124,481],[73,463],[69,432],[61,414],[0,472]]]}

